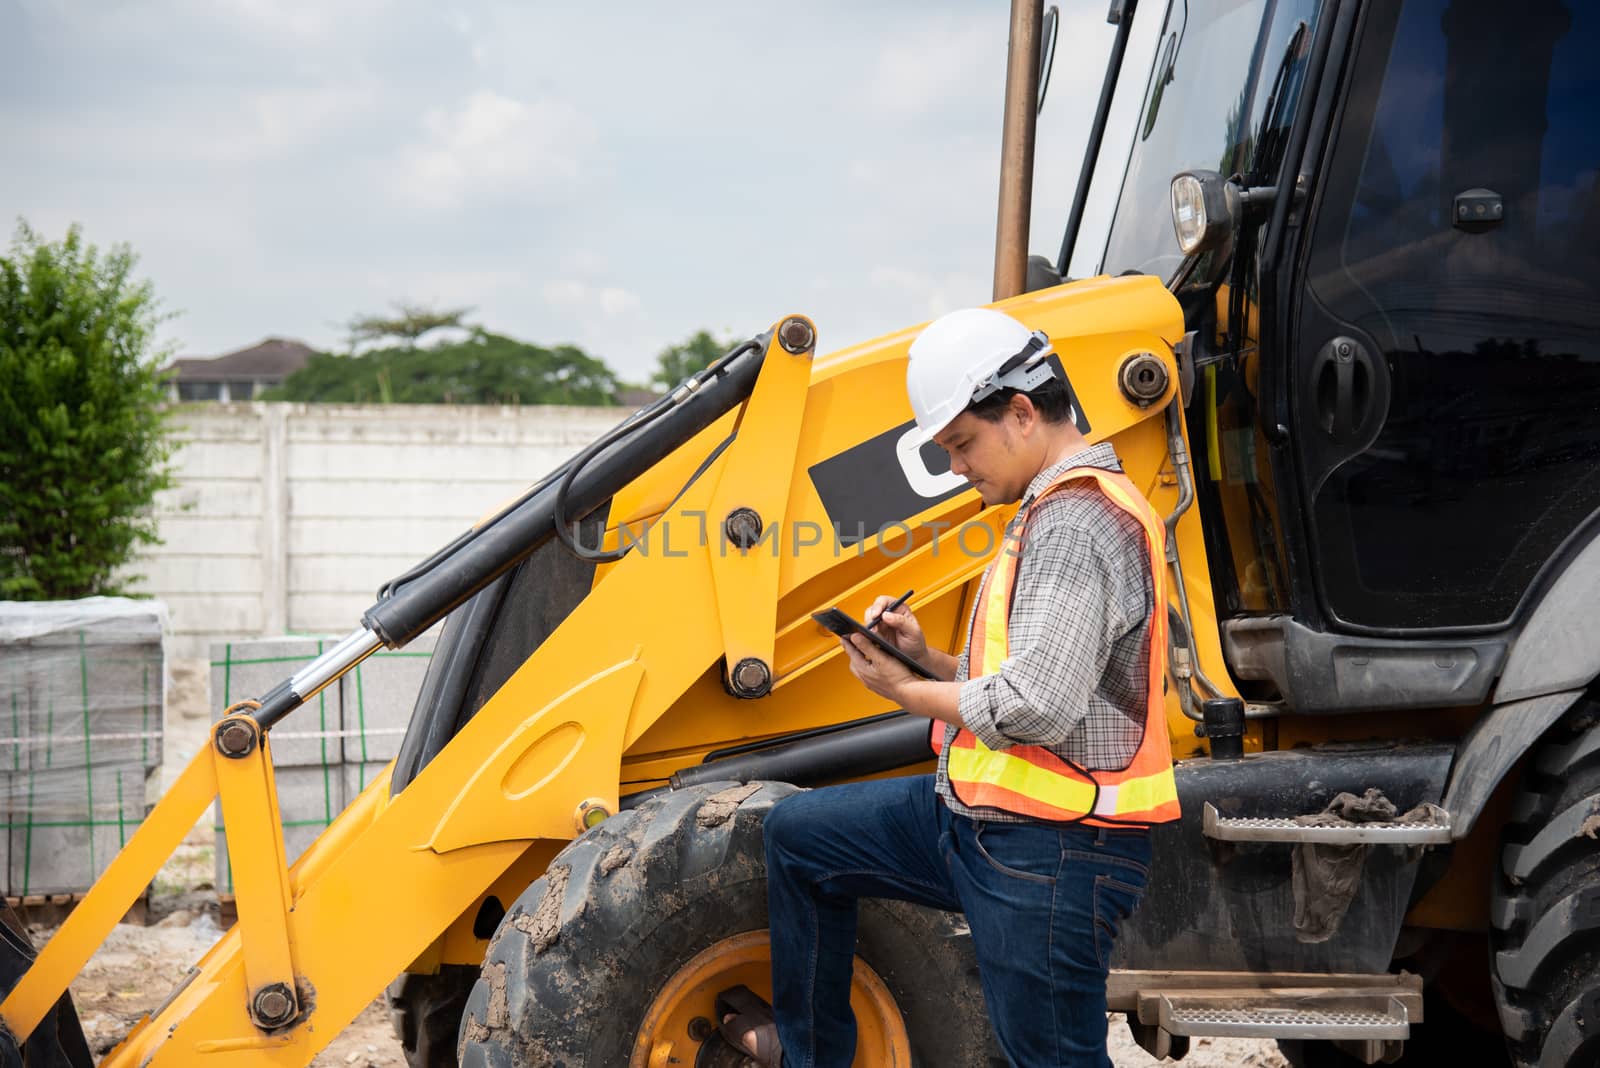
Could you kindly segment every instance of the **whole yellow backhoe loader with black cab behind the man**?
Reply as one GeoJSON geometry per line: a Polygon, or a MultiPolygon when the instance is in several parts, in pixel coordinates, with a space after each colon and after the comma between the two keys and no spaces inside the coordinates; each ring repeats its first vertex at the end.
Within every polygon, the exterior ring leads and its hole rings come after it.
{"type": "MultiPolygon", "coordinates": [[[[1600,10],[1134,6],[1029,265],[1053,22],[1014,5],[995,285],[1171,532],[1184,817],[1112,1006],[1155,1054],[1597,1065],[1600,10]]],[[[8,942],[5,1063],[88,1063],[64,991],[216,796],[238,923],[104,1063],[306,1065],[386,988],[418,1066],[722,1063],[715,991],[768,990],[763,814],[928,767],[811,612],[914,588],[955,648],[1008,516],[902,444],[914,334],[778,320],[229,708],[8,942]],[[286,867],[274,726],[446,616],[400,756],[286,867]]],[[[851,1004],[858,1065],[1003,1063],[952,916],[866,908],[851,1004]]]]}

